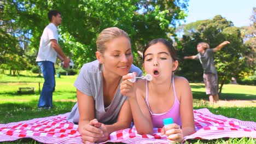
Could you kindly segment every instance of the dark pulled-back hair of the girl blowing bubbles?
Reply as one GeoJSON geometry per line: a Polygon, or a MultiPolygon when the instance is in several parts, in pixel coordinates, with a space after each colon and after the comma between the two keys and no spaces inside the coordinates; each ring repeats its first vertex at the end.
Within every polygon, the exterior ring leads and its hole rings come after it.
{"type": "Polygon", "coordinates": [[[173,61],[177,61],[178,60],[178,56],[176,54],[175,48],[172,46],[172,42],[170,42],[170,41],[168,41],[166,39],[160,38],[160,39],[153,39],[153,40],[149,41],[148,45],[143,50],[143,62],[145,60],[145,52],[148,49],[148,47],[150,47],[150,46],[152,46],[152,45],[154,45],[156,43],[164,44],[167,47],[168,51],[170,52],[170,55],[171,55],[173,61]]]}

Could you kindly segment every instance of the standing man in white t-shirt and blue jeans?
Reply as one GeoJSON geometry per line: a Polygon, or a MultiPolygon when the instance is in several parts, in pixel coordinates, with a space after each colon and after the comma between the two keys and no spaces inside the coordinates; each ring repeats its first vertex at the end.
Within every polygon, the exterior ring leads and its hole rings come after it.
{"type": "Polygon", "coordinates": [[[43,73],[44,85],[38,101],[38,108],[53,108],[53,92],[55,89],[54,63],[57,57],[64,62],[64,67],[69,67],[70,59],[63,53],[58,44],[59,33],[57,26],[61,24],[61,13],[50,10],[48,13],[49,25],[44,28],[40,39],[40,46],[36,62],[43,73]]]}

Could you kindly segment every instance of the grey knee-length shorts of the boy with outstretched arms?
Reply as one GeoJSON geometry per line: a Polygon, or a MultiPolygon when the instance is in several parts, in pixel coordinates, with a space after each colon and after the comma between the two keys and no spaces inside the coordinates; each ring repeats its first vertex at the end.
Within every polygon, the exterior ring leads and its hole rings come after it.
{"type": "Polygon", "coordinates": [[[218,94],[218,75],[213,73],[203,73],[203,81],[205,81],[206,94],[218,94]]]}

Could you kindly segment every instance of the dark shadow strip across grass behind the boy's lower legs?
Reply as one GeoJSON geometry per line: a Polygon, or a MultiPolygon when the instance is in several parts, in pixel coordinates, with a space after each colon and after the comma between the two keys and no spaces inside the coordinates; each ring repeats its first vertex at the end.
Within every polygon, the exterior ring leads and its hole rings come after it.
{"type": "MultiPolygon", "coordinates": [[[[193,92],[193,99],[208,100],[209,97],[205,92],[193,92]]],[[[219,100],[256,100],[256,95],[243,93],[222,93],[219,95],[219,100]]]]}

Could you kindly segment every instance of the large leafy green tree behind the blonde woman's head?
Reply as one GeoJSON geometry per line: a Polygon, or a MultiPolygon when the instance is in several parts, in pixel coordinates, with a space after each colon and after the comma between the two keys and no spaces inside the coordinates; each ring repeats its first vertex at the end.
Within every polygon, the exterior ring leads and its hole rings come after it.
{"type": "Polygon", "coordinates": [[[174,26],[186,16],[184,10],[187,4],[187,0],[6,0],[3,2],[2,16],[8,17],[14,29],[15,25],[19,26],[20,33],[28,35],[27,49],[30,56],[34,55],[33,61],[40,35],[49,23],[46,14],[51,9],[57,9],[62,13],[60,45],[65,53],[73,53],[73,61],[78,67],[95,59],[97,34],[113,26],[129,33],[135,63],[140,65],[141,59],[136,51],[142,50],[153,38],[175,35],[174,26]]]}

